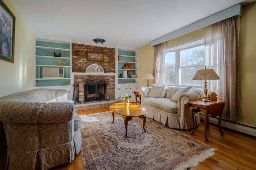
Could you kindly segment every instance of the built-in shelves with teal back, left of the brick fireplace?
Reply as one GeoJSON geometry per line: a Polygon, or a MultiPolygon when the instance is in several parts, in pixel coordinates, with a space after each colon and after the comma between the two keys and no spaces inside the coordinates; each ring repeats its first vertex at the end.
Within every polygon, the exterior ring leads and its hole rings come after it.
{"type": "MultiPolygon", "coordinates": [[[[70,86],[71,40],[35,36],[34,87],[70,86]],[[55,52],[55,55],[54,55],[55,52]],[[60,54],[61,53],[61,54],[60,54]],[[61,65],[65,63],[64,65],[61,65]],[[64,76],[43,77],[43,68],[63,68],[64,76]]],[[[58,70],[58,69],[53,69],[58,70]]]]}

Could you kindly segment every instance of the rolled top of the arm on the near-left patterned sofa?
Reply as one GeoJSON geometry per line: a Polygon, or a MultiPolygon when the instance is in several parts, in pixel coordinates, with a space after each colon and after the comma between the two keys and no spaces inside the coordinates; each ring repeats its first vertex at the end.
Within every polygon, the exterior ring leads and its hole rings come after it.
{"type": "Polygon", "coordinates": [[[9,123],[60,123],[74,117],[73,103],[1,102],[0,121],[9,123]]]}

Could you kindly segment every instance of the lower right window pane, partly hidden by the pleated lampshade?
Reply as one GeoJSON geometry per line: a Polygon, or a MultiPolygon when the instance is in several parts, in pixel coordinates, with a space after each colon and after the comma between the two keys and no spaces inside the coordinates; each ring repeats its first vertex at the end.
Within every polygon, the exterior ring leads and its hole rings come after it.
{"type": "Polygon", "coordinates": [[[189,86],[203,86],[201,80],[192,80],[196,71],[198,69],[204,69],[204,66],[201,67],[186,67],[180,68],[180,83],[179,85],[189,85],[189,86]]]}

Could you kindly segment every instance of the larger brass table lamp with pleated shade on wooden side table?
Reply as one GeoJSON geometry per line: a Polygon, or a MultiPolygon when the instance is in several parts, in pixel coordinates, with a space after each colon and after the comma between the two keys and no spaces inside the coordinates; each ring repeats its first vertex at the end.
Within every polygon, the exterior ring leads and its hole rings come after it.
{"type": "Polygon", "coordinates": [[[202,70],[198,70],[192,80],[204,80],[204,99],[202,101],[210,101],[207,97],[207,83],[206,80],[219,80],[220,77],[216,74],[214,69],[206,69],[206,66],[202,70]]]}

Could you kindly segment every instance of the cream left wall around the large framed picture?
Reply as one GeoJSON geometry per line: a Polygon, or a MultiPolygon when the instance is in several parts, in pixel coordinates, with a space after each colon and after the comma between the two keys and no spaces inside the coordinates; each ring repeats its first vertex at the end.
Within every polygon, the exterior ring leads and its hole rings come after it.
{"type": "Polygon", "coordinates": [[[14,63],[0,60],[0,98],[7,95],[30,90],[34,76],[34,38],[10,0],[4,4],[16,17],[14,63]]]}

